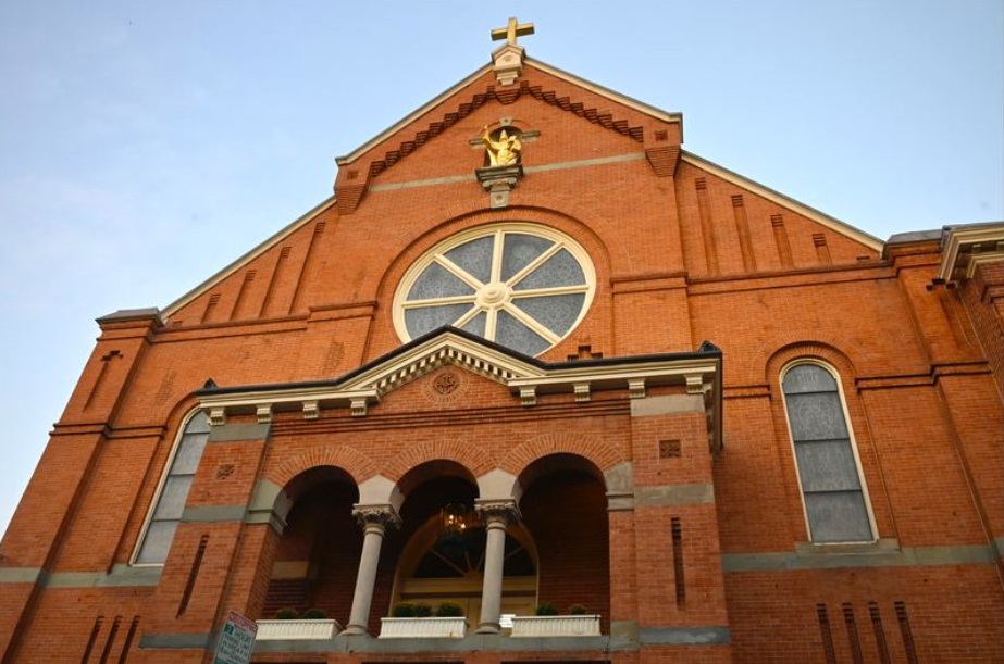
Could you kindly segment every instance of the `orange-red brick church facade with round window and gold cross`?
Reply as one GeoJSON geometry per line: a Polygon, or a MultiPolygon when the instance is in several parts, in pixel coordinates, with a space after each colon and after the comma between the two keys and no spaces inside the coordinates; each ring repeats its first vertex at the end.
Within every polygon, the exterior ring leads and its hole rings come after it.
{"type": "Polygon", "coordinates": [[[3,662],[1004,662],[1004,223],[882,242],[525,28],[98,320],[3,662]]]}

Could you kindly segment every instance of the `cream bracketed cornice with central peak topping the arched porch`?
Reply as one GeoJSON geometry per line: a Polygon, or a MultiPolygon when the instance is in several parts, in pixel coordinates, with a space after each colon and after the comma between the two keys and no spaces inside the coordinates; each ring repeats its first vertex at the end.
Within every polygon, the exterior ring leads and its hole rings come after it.
{"type": "Polygon", "coordinates": [[[528,408],[547,393],[573,393],[577,402],[587,402],[596,390],[622,390],[641,399],[653,387],[685,386],[687,393],[704,397],[709,443],[712,450],[720,446],[721,351],[710,343],[689,353],[547,363],[445,327],[334,380],[212,386],[198,397],[214,425],[224,424],[227,415],[249,413],[268,423],[277,411],[302,411],[314,419],[321,410],[348,408],[361,417],[386,393],[448,364],[508,387],[528,408]]]}

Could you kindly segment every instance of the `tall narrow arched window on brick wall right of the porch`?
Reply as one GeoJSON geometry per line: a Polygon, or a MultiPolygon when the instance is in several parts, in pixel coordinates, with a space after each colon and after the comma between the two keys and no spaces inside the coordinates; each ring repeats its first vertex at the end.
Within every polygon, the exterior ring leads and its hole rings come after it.
{"type": "Polygon", "coordinates": [[[782,373],[781,385],[810,539],[872,541],[867,491],[835,372],[796,363],[782,373]]]}

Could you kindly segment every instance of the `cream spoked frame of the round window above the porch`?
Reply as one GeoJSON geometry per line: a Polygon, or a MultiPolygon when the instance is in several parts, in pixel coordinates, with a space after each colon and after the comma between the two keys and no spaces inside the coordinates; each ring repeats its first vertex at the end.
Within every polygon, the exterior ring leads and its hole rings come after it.
{"type": "MultiPolygon", "coordinates": [[[[590,259],[588,253],[585,249],[572,239],[570,236],[556,230],[554,228],[542,226],[538,224],[526,223],[526,222],[511,222],[505,224],[492,224],[488,226],[478,226],[463,230],[456,235],[453,235],[446,238],[443,241],[437,242],[427,251],[425,251],[418,260],[416,260],[411,266],[401,276],[400,283],[397,286],[397,289],[394,293],[394,304],[393,304],[393,318],[394,318],[394,328],[397,331],[398,337],[405,341],[411,341],[416,337],[412,337],[408,330],[407,322],[405,318],[405,312],[407,309],[410,309],[408,303],[408,295],[411,291],[414,283],[419,279],[425,270],[433,264],[437,264],[441,267],[444,266],[442,260],[443,255],[448,251],[473,240],[495,236],[495,242],[493,245],[493,256],[491,265],[491,274],[493,277],[500,278],[500,261],[501,261],[501,250],[504,248],[505,236],[508,234],[522,234],[529,235],[532,237],[543,238],[553,242],[553,245],[542,254],[537,255],[524,267],[519,270],[512,277],[510,277],[505,284],[518,284],[522,279],[526,278],[529,275],[533,274],[534,271],[546,263],[551,256],[557,254],[561,249],[565,249],[571,254],[571,256],[579,264],[580,270],[584,277],[584,284],[575,286],[559,286],[559,287],[549,287],[549,288],[538,288],[538,289],[529,289],[524,291],[519,291],[517,297],[511,297],[511,287],[499,288],[499,284],[495,281],[489,281],[484,284],[480,281],[476,277],[470,273],[464,272],[466,277],[459,277],[458,274],[453,268],[447,268],[447,271],[454,276],[458,276],[462,281],[466,281],[468,285],[474,288],[474,292],[471,296],[459,296],[459,297],[443,297],[443,298],[432,298],[422,300],[423,302],[432,302],[436,300],[444,300],[448,302],[456,303],[466,303],[470,301],[473,306],[468,310],[460,318],[455,322],[462,322],[466,324],[468,321],[473,320],[481,312],[486,313],[485,321],[485,333],[484,335],[478,335],[488,341],[496,341],[496,327],[492,321],[493,315],[497,316],[497,312],[506,311],[510,316],[513,316],[513,310],[518,313],[515,315],[517,320],[522,323],[525,327],[530,328],[535,335],[543,338],[547,341],[547,347],[543,350],[536,352],[528,352],[523,349],[513,348],[517,352],[523,354],[533,354],[534,356],[546,353],[555,346],[563,341],[571,335],[585,318],[586,314],[590,311],[590,308],[593,303],[593,298],[596,293],[596,270],[593,266],[593,261],[590,259]],[[476,283],[476,286],[474,285],[476,283]],[[499,290],[504,291],[499,293],[499,290]],[[557,334],[550,328],[544,326],[541,323],[537,323],[532,316],[526,312],[519,310],[517,306],[511,305],[512,300],[518,300],[519,298],[530,298],[530,297],[548,297],[548,296],[561,296],[561,295],[571,295],[571,293],[583,293],[584,298],[582,305],[579,309],[579,313],[575,316],[575,320],[569,325],[568,329],[563,334],[557,334]],[[528,324],[528,321],[531,324],[528,324]]],[[[454,267],[457,267],[454,265],[454,267]]]]}

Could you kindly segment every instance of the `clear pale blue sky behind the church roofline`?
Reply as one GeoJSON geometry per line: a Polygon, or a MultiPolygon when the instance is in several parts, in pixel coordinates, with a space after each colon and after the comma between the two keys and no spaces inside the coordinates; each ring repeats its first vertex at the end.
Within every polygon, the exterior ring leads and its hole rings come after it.
{"type": "Polygon", "coordinates": [[[528,54],[881,239],[1004,218],[1001,0],[0,2],[0,530],[94,348],[331,193],[350,152],[528,54]]]}

